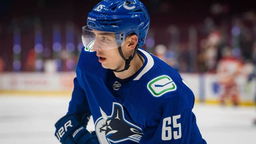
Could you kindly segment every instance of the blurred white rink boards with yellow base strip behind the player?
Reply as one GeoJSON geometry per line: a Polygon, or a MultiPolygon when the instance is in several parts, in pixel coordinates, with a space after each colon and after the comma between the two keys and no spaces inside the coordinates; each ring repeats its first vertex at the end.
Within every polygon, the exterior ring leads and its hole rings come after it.
{"type": "MultiPolygon", "coordinates": [[[[223,86],[216,74],[181,73],[182,78],[194,92],[196,101],[219,103],[223,86]]],[[[2,73],[0,94],[70,96],[73,90],[74,72],[59,73],[2,73]]],[[[241,105],[254,105],[256,80],[247,81],[247,76],[236,78],[241,105]]]]}

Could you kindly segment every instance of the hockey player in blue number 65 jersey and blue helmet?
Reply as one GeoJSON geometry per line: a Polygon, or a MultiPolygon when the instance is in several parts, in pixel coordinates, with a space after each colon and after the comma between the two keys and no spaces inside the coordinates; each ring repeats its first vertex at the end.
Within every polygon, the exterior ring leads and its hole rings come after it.
{"type": "Polygon", "coordinates": [[[103,0],[88,14],[62,144],[205,144],[194,94],[172,67],[140,48],[149,15],[138,0],[103,0]],[[95,131],[86,130],[92,115],[95,131]]]}

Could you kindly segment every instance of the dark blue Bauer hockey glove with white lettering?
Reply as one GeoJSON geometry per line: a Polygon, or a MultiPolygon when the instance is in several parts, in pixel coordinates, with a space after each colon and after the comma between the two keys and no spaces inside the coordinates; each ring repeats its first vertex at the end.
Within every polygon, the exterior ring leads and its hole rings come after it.
{"type": "Polygon", "coordinates": [[[62,144],[98,144],[98,140],[86,129],[89,114],[84,114],[82,121],[74,114],[63,116],[55,124],[55,137],[62,144]]]}

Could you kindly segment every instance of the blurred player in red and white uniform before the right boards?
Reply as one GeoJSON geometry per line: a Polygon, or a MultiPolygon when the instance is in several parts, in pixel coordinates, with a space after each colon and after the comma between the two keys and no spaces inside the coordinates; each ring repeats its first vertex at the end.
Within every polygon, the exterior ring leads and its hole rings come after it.
{"type": "Polygon", "coordinates": [[[231,98],[234,105],[239,102],[239,90],[237,89],[236,77],[241,73],[242,63],[232,56],[232,49],[225,47],[222,58],[217,64],[217,76],[219,84],[223,87],[220,100],[225,104],[231,98]]]}

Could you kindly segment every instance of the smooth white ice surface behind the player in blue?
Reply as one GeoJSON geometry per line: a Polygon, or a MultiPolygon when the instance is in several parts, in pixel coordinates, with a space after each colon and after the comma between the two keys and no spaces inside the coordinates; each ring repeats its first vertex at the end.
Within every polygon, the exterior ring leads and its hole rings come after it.
{"type": "MultiPolygon", "coordinates": [[[[69,101],[69,97],[0,95],[0,144],[59,144],[54,124],[67,113],[69,101]]],[[[196,104],[193,112],[208,144],[256,143],[254,107],[196,104]]],[[[94,129],[92,119],[87,129],[94,129]]]]}

